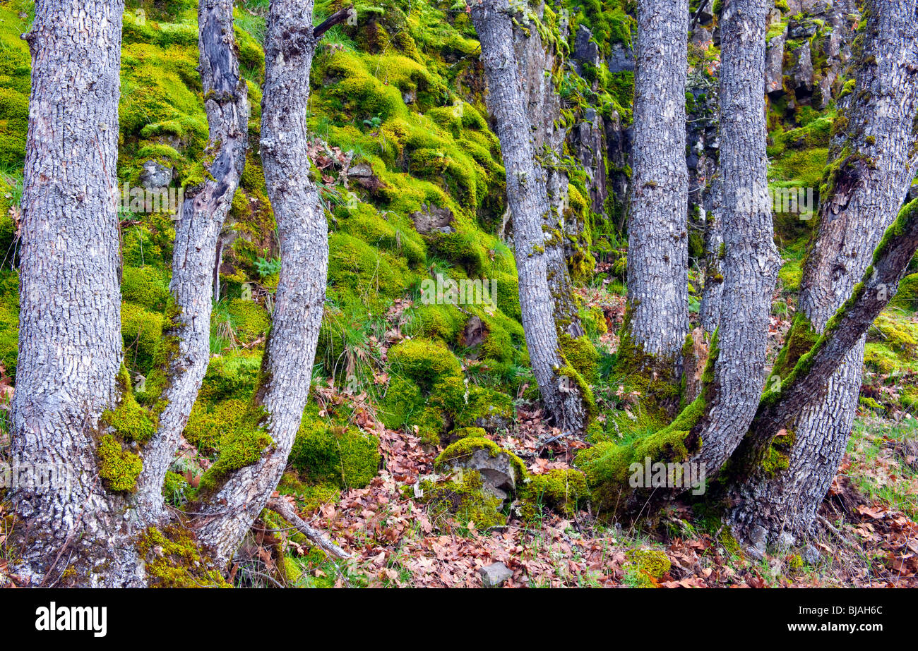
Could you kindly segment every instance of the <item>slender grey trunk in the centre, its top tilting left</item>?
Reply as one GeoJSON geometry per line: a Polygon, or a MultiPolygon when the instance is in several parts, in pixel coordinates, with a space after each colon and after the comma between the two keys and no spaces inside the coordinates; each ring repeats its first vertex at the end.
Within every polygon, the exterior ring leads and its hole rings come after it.
{"type": "Polygon", "coordinates": [[[487,78],[487,107],[494,116],[507,171],[507,203],[513,214],[513,241],[520,278],[522,325],[543,402],[556,425],[582,431],[588,420],[582,389],[563,372],[554,327],[554,301],[548,287],[547,237],[543,220],[550,207],[545,175],[535,160],[532,129],[526,114],[513,27],[507,0],[472,6],[487,78]]]}

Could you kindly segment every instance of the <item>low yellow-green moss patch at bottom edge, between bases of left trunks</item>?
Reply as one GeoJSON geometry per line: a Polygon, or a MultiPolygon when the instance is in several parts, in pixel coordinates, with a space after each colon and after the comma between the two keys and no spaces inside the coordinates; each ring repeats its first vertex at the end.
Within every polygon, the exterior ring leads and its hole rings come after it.
{"type": "Polygon", "coordinates": [[[151,588],[229,588],[184,527],[145,529],[138,536],[137,550],[151,588]]]}

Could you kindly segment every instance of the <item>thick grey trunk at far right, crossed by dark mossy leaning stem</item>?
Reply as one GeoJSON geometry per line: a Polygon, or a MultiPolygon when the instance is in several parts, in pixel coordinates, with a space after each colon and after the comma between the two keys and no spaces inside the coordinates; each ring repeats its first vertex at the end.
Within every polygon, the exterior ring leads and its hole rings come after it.
{"type": "MultiPolygon", "coordinates": [[[[821,197],[818,237],[801,286],[800,312],[816,333],[823,333],[868,267],[915,173],[916,5],[899,0],[868,2],[865,7],[865,41],[855,92],[849,95],[853,104],[844,113],[847,127],[833,143],[835,170],[821,197]]],[[[863,356],[864,337],[859,337],[850,350],[839,353],[837,368],[809,381],[815,389],[809,400],[800,402],[799,413],[785,408],[786,414],[770,416],[768,422],[763,414],[756,417],[757,447],[767,445],[781,428],[796,437],[787,469],[774,476],[758,469],[737,489],[744,502],[733,512],[733,522],[757,551],[769,541],[789,542],[812,524],[845,452],[863,356]]],[[[818,375],[815,368],[810,373],[818,375]]],[[[780,391],[782,402],[789,403],[783,396],[786,384],[782,382],[780,391]]]]}

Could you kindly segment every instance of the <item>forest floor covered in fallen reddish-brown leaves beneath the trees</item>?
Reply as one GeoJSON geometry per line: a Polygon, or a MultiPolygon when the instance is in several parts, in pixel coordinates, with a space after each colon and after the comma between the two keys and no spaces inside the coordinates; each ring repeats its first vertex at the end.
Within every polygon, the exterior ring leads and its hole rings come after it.
{"type": "MultiPolygon", "coordinates": [[[[623,299],[601,292],[584,298],[604,303],[610,333],[617,331],[623,299]]],[[[773,318],[769,348],[775,353],[789,318],[773,318]]],[[[605,337],[614,349],[616,337],[605,337]]],[[[868,372],[865,382],[871,380],[868,372]]],[[[918,420],[908,410],[883,417],[871,409],[859,412],[811,539],[754,558],[704,502],[675,502],[653,522],[626,526],[602,522],[588,509],[567,515],[546,509],[539,519],[525,520],[516,502],[506,524],[488,530],[437,515],[440,510],[419,499],[421,481],[444,479],[434,476],[435,449],[386,429],[364,396],[330,385],[319,390],[319,399],[351,403],[361,427],[380,439],[383,469],[369,486],[304,513],[353,558],[331,561],[268,526],[256,534],[250,560],[242,564],[243,571],[255,570],[255,583],[282,549],[297,565],[298,576],[287,581],[297,586],[478,587],[479,569],[501,562],[513,572],[509,587],[918,587],[918,420]],[[658,576],[642,571],[636,559],[647,550],[664,553],[669,568],[658,576]]],[[[620,408],[627,411],[624,399],[620,408]]],[[[570,468],[577,450],[587,446],[551,440],[558,430],[532,404],[519,406],[516,415],[507,432],[490,436],[522,458],[532,475],[570,468]]]]}

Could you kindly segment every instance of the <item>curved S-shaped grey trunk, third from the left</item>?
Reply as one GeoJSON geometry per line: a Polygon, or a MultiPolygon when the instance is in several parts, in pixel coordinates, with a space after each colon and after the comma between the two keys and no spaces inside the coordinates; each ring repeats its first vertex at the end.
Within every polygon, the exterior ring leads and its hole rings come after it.
{"type": "Polygon", "coordinates": [[[328,225],[309,179],[309,71],[317,38],[312,0],[274,0],[265,37],[261,154],[281,249],[280,282],[256,404],[273,440],[233,472],[195,523],[198,539],[225,564],[284,473],[309,392],[328,275],[328,225]]]}

